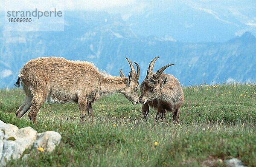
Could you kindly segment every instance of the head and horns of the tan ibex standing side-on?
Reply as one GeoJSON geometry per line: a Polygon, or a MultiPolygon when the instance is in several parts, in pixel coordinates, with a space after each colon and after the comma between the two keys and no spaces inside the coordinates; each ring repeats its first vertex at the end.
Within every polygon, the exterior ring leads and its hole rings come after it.
{"type": "MultiPolygon", "coordinates": [[[[125,57],[127,61],[130,64],[131,72],[129,72],[126,82],[126,87],[122,90],[122,94],[125,95],[125,97],[132,102],[133,105],[139,104],[139,78],[140,78],[140,66],[137,64],[137,62],[134,62],[137,66],[137,74],[135,72],[134,65],[132,62],[125,57]]],[[[125,75],[122,73],[122,69],[119,71],[120,76],[123,78],[125,75]]]]}

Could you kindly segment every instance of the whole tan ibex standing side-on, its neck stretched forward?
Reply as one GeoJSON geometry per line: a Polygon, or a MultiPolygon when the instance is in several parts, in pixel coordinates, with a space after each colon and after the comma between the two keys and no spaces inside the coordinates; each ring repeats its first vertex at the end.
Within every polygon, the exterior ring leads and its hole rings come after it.
{"type": "Polygon", "coordinates": [[[131,72],[125,77],[111,76],[99,71],[92,63],[70,61],[60,57],[41,57],[27,62],[18,75],[16,86],[23,86],[26,98],[16,111],[21,118],[30,108],[29,119],[36,123],[36,116],[47,100],[50,102],[78,103],[81,119],[84,121],[86,111],[93,122],[92,103],[103,96],[122,93],[134,105],[139,103],[138,86],[140,67],[137,63],[137,74],[132,62],[131,72]]]}

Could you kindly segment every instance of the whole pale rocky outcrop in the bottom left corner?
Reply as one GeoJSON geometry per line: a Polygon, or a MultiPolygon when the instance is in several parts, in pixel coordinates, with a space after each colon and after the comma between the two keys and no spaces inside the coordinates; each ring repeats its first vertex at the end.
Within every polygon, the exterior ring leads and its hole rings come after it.
{"type": "Polygon", "coordinates": [[[11,159],[19,159],[26,149],[40,148],[38,150],[50,152],[60,141],[58,132],[37,133],[32,127],[19,129],[0,120],[0,166],[5,166],[11,159]]]}

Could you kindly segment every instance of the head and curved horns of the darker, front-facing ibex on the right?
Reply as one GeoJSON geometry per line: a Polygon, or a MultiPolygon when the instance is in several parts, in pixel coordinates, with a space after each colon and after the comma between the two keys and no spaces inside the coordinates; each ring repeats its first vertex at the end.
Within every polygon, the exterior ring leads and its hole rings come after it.
{"type": "Polygon", "coordinates": [[[153,68],[154,63],[159,57],[155,57],[148,66],[148,71],[146,78],[140,85],[140,103],[145,104],[148,101],[157,99],[160,96],[160,92],[163,89],[164,85],[167,82],[167,77],[160,79],[161,74],[163,71],[171,65],[175,64],[168,64],[157,70],[157,73],[153,75],[153,68]]]}

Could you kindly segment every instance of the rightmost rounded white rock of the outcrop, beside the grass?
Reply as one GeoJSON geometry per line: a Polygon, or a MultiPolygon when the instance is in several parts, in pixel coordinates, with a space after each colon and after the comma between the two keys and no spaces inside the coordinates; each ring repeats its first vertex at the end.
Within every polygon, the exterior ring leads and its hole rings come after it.
{"type": "Polygon", "coordinates": [[[55,131],[46,131],[38,133],[37,140],[34,143],[34,148],[42,147],[45,151],[52,151],[55,146],[61,142],[61,135],[55,131]]]}

